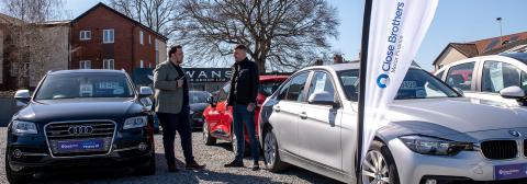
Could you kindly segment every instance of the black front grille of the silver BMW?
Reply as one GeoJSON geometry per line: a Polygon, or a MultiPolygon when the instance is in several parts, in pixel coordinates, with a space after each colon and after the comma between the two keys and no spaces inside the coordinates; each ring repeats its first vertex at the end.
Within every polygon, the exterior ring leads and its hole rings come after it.
{"type": "Polygon", "coordinates": [[[516,140],[489,140],[481,143],[483,156],[492,160],[514,159],[518,154],[516,140]]]}

